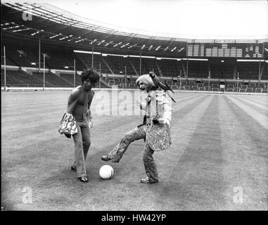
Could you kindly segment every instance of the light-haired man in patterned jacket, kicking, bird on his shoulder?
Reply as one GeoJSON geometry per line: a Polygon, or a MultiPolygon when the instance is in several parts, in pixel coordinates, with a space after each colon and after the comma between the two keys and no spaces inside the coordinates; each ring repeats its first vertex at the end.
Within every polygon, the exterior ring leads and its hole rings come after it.
{"type": "Polygon", "coordinates": [[[138,102],[141,110],[146,111],[143,124],[127,132],[120,143],[108,155],[103,155],[101,159],[119,162],[130,143],[144,139],[143,163],[147,176],[141,179],[141,183],[151,184],[158,182],[158,171],[153,153],[165,150],[171,144],[172,102],[170,95],[167,95],[166,91],[158,89],[149,75],[142,75],[136,79],[136,84],[141,91],[148,93],[146,103],[138,102]]]}

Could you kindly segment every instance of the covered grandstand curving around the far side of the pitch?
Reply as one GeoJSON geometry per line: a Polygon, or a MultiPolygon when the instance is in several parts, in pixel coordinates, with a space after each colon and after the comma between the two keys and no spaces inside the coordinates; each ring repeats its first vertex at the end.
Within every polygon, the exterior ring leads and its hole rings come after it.
{"type": "MultiPolygon", "coordinates": [[[[13,86],[43,85],[42,68],[44,68],[43,54],[45,54],[45,85],[47,86],[74,86],[74,69],[77,72],[75,85],[78,85],[80,83],[78,71],[82,72],[92,67],[101,75],[100,86],[103,88],[116,85],[121,89],[136,89],[136,77],[153,71],[162,76],[174,90],[247,93],[267,91],[268,54],[266,52],[262,56],[263,60],[257,61],[242,61],[232,57],[196,57],[194,54],[188,57],[186,44],[196,40],[170,41],[170,39],[151,38],[125,32],[118,35],[113,33],[113,30],[100,31],[98,27],[94,27],[96,28],[94,32],[89,32],[88,27],[87,29],[75,28],[65,24],[64,21],[59,25],[38,16],[34,17],[36,23],[20,25],[16,23],[18,21],[24,23],[21,21],[21,12],[17,8],[11,9],[9,7],[11,5],[3,6],[3,19],[6,22],[1,24],[2,86],[4,85],[3,47],[5,46],[6,84],[13,86]],[[14,21],[9,21],[11,11],[14,21]],[[14,24],[24,28],[30,27],[25,31],[21,30],[23,35],[20,35],[20,32],[13,32],[14,24]],[[57,30],[64,30],[65,34],[56,34],[57,30]],[[141,48],[143,45],[146,48],[141,48]],[[162,47],[156,51],[156,49],[149,49],[148,46],[162,47]],[[172,51],[176,48],[176,51],[172,51]],[[94,54],[91,52],[93,49],[94,54]],[[182,49],[184,50],[181,51],[182,49]],[[224,87],[220,87],[219,84],[224,87]]],[[[219,40],[217,41],[219,44],[219,40]]],[[[239,42],[235,40],[233,43],[236,41],[239,42]]],[[[259,41],[264,44],[264,47],[268,47],[267,42],[259,41]]],[[[244,41],[241,43],[247,44],[244,41]]],[[[210,45],[214,44],[215,40],[211,40],[210,45]]],[[[253,57],[255,56],[251,58],[253,57]]]]}

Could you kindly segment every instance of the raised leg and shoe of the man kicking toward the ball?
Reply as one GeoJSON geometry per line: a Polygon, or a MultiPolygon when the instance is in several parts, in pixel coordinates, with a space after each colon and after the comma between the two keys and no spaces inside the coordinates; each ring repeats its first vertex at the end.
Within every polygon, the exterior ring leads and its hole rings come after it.
{"type": "Polygon", "coordinates": [[[108,155],[103,155],[101,159],[104,161],[112,160],[113,162],[119,162],[130,143],[136,140],[145,139],[145,128],[146,125],[143,125],[127,132],[127,134],[125,134],[125,136],[121,139],[120,143],[117,143],[117,146],[115,146],[108,155]]]}

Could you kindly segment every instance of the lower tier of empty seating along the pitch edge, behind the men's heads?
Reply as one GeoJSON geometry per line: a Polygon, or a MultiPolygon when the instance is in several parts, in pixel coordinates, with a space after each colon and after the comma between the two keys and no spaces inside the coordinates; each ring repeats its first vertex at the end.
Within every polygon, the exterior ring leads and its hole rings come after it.
{"type": "MultiPolygon", "coordinates": [[[[32,75],[23,71],[6,70],[6,85],[7,86],[43,86],[44,74],[42,72],[32,72],[32,75]]],[[[54,75],[51,72],[45,74],[46,86],[62,86],[72,87],[73,83],[72,74],[58,74],[54,75]]],[[[138,89],[136,86],[136,77],[102,77],[103,82],[100,86],[107,88],[117,86],[121,89],[138,89]]],[[[167,84],[171,86],[173,90],[182,91],[227,91],[227,92],[241,92],[241,93],[267,93],[267,83],[261,82],[225,82],[224,88],[221,88],[219,82],[202,79],[188,80],[188,79],[166,79],[167,84]]],[[[75,77],[75,86],[81,84],[79,75],[75,77]]],[[[4,86],[4,70],[1,70],[1,86],[4,86]]],[[[96,88],[98,88],[97,84],[96,88]]]]}

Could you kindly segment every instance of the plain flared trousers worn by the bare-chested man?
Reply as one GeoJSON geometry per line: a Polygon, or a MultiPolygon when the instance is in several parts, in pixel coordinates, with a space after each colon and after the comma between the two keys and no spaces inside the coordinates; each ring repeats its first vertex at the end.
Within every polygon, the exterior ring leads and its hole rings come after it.
{"type": "Polygon", "coordinates": [[[86,158],[91,145],[90,129],[87,119],[76,118],[78,133],[72,135],[75,142],[75,161],[72,167],[76,168],[77,177],[87,176],[86,158]]]}

